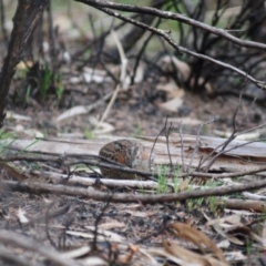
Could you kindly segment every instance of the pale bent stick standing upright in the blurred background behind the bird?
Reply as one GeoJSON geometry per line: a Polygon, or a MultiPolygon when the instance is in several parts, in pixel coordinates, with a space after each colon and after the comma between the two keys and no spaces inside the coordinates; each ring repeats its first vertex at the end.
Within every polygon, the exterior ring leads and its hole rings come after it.
{"type": "Polygon", "coordinates": [[[109,102],[109,105],[106,108],[106,110],[104,111],[101,120],[99,121],[99,123],[96,124],[95,126],[95,130],[98,129],[98,126],[106,119],[111,108],[113,106],[113,103],[119,94],[119,91],[121,89],[121,86],[124,89],[125,88],[125,75],[126,75],[126,66],[127,66],[127,59],[125,58],[125,54],[124,54],[124,50],[123,50],[123,47],[121,45],[121,42],[117,38],[117,34],[114,32],[114,31],[111,31],[111,34],[114,39],[114,42],[117,47],[117,50],[119,50],[119,54],[120,54],[120,59],[121,59],[121,74],[120,74],[120,84],[116,85],[114,92],[113,92],[113,95],[109,102]]]}

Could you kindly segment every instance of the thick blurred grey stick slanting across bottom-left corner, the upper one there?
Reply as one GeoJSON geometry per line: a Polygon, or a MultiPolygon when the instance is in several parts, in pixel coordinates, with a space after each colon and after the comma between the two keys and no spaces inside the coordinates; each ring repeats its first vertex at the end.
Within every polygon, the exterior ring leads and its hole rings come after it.
{"type": "Polygon", "coordinates": [[[38,243],[24,237],[21,234],[13,233],[11,231],[1,229],[0,231],[0,242],[6,245],[18,246],[20,248],[38,253],[44,256],[50,262],[59,266],[78,266],[81,265],[76,260],[66,258],[65,255],[55,252],[49,247],[45,247],[43,243],[38,243]]]}

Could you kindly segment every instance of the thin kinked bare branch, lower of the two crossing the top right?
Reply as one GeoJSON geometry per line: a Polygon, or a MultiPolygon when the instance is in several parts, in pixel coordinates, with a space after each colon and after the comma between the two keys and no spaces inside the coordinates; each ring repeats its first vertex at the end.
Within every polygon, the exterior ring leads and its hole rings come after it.
{"type": "MultiPolygon", "coordinates": [[[[83,1],[83,0],[78,0],[78,1],[80,1],[80,2],[85,2],[85,1],[83,1]]],[[[88,0],[88,1],[90,1],[90,0],[88,0]]],[[[93,4],[92,4],[92,6],[93,6],[93,4]]],[[[265,89],[265,85],[266,85],[266,84],[265,84],[264,81],[259,81],[259,80],[254,79],[252,75],[247,74],[246,72],[242,71],[241,69],[238,69],[238,68],[236,68],[236,66],[233,66],[233,65],[231,65],[231,64],[228,64],[228,63],[224,63],[224,62],[222,62],[222,61],[219,61],[219,60],[215,60],[215,59],[213,59],[213,58],[211,58],[211,57],[207,57],[207,55],[204,55],[204,54],[201,54],[201,53],[193,52],[193,51],[191,51],[191,50],[188,50],[188,49],[186,49],[186,48],[183,48],[183,47],[178,45],[176,42],[174,42],[174,41],[172,40],[172,38],[170,38],[168,32],[166,32],[166,31],[164,31],[164,30],[158,30],[158,29],[155,29],[155,28],[153,28],[153,27],[146,25],[146,24],[144,24],[144,23],[142,23],[142,22],[135,21],[135,20],[133,20],[133,19],[131,19],[131,18],[126,18],[126,17],[121,16],[121,14],[119,14],[117,12],[113,12],[113,11],[111,11],[111,10],[109,10],[109,9],[100,8],[100,7],[98,7],[98,6],[93,6],[93,7],[96,8],[96,9],[99,9],[100,11],[103,11],[103,12],[110,14],[110,16],[113,16],[113,17],[115,17],[115,18],[119,18],[119,19],[123,20],[123,21],[126,21],[126,22],[129,22],[129,23],[132,23],[132,24],[134,24],[134,25],[136,25],[136,27],[141,27],[141,28],[143,28],[143,29],[146,29],[146,30],[149,30],[149,31],[152,31],[152,32],[154,32],[154,33],[163,37],[163,38],[170,43],[170,45],[172,45],[176,51],[184,52],[184,53],[191,54],[191,55],[193,55],[193,57],[195,57],[195,58],[201,58],[201,59],[207,60],[207,61],[209,61],[209,62],[213,62],[213,63],[215,63],[215,64],[218,64],[218,65],[221,65],[221,66],[224,66],[224,68],[226,68],[226,69],[233,70],[234,72],[237,72],[238,74],[247,78],[249,81],[252,81],[253,83],[255,83],[257,86],[260,86],[260,89],[265,89]]],[[[231,35],[231,34],[229,34],[229,35],[231,35]]],[[[238,39],[238,40],[239,40],[239,39],[238,39]]],[[[243,41],[243,42],[245,42],[245,41],[243,41]]],[[[253,43],[257,43],[257,42],[253,42],[253,43]]],[[[258,43],[257,43],[257,44],[258,44],[258,43]]],[[[263,44],[263,45],[264,45],[264,44],[263,44]]],[[[264,45],[264,47],[265,47],[264,49],[266,49],[266,45],[264,45]]]]}

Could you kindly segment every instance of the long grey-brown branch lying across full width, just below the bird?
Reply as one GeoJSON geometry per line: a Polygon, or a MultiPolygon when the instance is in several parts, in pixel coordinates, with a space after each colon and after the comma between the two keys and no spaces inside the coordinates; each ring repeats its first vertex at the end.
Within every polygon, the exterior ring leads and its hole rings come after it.
{"type": "MultiPolygon", "coordinates": [[[[154,194],[154,195],[135,195],[135,194],[124,194],[124,193],[115,193],[110,202],[116,203],[135,203],[141,202],[143,204],[157,204],[157,203],[167,203],[167,202],[176,202],[176,201],[185,201],[188,198],[198,198],[198,197],[209,197],[209,196],[224,196],[237,192],[250,191],[256,188],[262,188],[266,186],[266,180],[248,182],[242,185],[233,185],[233,186],[223,186],[217,188],[208,188],[204,191],[190,191],[190,192],[181,192],[181,193],[171,193],[171,194],[154,194]]],[[[103,192],[92,192],[86,188],[80,187],[71,187],[65,185],[51,185],[43,184],[37,182],[23,182],[18,183],[13,181],[2,181],[1,187],[3,190],[17,191],[17,192],[27,192],[27,193],[53,193],[58,195],[69,195],[69,196],[81,196],[91,198],[94,201],[106,202],[109,198],[109,193],[103,192]]],[[[1,241],[1,235],[0,235],[1,241]]]]}

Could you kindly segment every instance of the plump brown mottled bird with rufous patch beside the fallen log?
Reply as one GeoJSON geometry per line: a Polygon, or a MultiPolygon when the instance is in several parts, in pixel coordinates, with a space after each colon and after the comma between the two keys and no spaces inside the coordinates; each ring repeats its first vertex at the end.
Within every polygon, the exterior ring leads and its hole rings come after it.
{"type": "MultiPolygon", "coordinates": [[[[114,163],[120,163],[134,170],[150,171],[149,153],[145,147],[136,141],[117,140],[110,142],[100,150],[99,155],[102,158],[111,160],[114,163]]],[[[104,160],[101,160],[101,162],[104,162],[104,160]]],[[[141,177],[136,174],[114,168],[100,167],[100,170],[104,177],[120,180],[135,180],[141,177]]]]}

